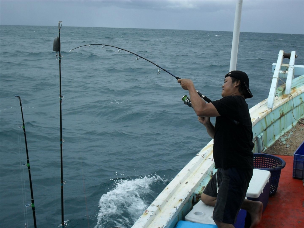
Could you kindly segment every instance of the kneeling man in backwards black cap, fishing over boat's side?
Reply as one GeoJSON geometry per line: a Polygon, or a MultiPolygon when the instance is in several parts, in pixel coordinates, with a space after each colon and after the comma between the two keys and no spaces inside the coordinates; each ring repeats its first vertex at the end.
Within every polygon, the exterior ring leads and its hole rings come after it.
{"type": "Polygon", "coordinates": [[[219,228],[233,228],[239,210],[251,216],[250,228],[262,216],[262,202],[245,199],[253,175],[252,124],[246,98],[251,98],[249,79],[243,71],[225,75],[222,99],[206,103],[190,79],[178,79],[189,91],[191,104],[207,133],[214,139],[213,158],[218,171],[204,189],[201,200],[214,206],[213,220],[219,228]],[[215,126],[210,117],[216,116],[215,126]]]}

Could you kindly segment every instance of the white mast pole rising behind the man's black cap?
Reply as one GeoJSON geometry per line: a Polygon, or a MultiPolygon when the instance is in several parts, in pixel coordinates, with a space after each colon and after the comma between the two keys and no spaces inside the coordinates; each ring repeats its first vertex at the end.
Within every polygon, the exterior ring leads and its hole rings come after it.
{"type": "Polygon", "coordinates": [[[229,71],[235,71],[236,68],[237,68],[237,50],[238,50],[238,47],[239,47],[242,5],[243,5],[243,0],[239,0],[236,7],[235,7],[234,28],[233,28],[233,37],[232,37],[232,47],[231,47],[231,58],[230,58],[230,69],[229,69],[229,71]]]}

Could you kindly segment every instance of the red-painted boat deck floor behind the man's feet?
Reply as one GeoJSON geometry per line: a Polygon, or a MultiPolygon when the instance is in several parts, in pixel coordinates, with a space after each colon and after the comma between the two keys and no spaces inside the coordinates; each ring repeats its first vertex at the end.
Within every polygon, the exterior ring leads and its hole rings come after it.
{"type": "Polygon", "coordinates": [[[275,155],[286,162],[281,171],[278,190],[270,196],[257,228],[304,227],[304,186],[292,178],[293,156],[275,155]]]}

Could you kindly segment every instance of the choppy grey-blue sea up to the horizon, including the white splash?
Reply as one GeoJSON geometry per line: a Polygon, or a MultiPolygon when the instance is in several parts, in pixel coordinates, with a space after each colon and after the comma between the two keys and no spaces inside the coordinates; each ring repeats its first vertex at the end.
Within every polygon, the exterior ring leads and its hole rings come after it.
{"type": "MultiPolygon", "coordinates": [[[[210,141],[170,74],[221,98],[232,32],[65,27],[61,39],[64,220],[67,227],[131,227],[210,141]]],[[[33,227],[18,98],[22,100],[38,227],[61,227],[59,61],[55,26],[0,26],[0,227],[33,227]]],[[[304,36],[241,33],[237,69],[268,97],[279,50],[304,64],[304,36]]],[[[284,60],[284,62],[288,62],[284,60]]],[[[215,122],[215,118],[212,118],[215,122]]]]}

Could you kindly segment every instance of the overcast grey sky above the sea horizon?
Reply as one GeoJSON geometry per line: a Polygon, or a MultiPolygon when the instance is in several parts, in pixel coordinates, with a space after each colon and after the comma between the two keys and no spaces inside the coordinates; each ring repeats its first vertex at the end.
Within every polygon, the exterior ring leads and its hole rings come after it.
{"type": "MultiPolygon", "coordinates": [[[[0,0],[1,25],[233,31],[238,1],[0,0]]],[[[304,0],[244,0],[241,32],[304,34],[304,0]]]]}

